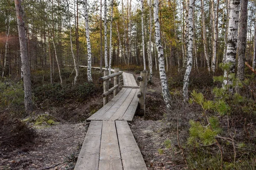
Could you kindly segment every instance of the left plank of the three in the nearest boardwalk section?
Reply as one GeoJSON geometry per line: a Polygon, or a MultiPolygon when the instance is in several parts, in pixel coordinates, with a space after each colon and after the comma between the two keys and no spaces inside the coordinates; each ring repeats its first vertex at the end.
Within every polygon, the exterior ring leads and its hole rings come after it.
{"type": "Polygon", "coordinates": [[[75,170],[98,170],[102,121],[91,121],[79,153],[75,170]]]}

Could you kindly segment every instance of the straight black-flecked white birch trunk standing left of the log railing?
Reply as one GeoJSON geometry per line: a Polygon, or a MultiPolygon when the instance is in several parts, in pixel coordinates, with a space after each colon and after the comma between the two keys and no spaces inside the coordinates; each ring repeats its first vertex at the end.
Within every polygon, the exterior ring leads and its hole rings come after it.
{"type": "MultiPolygon", "coordinates": [[[[86,36],[86,43],[87,43],[87,79],[88,82],[92,82],[92,51],[90,45],[90,32],[89,32],[89,24],[88,24],[88,9],[87,9],[87,0],[84,0],[84,17],[85,17],[85,36],[86,36]]],[[[108,61],[108,60],[107,60],[108,61]]],[[[107,69],[107,68],[106,68],[107,69]]]]}

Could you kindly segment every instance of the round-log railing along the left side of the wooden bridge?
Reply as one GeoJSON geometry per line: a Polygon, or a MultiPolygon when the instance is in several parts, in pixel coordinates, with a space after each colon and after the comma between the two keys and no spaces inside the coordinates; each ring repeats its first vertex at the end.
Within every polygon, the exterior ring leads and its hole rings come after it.
{"type": "Polygon", "coordinates": [[[108,103],[108,95],[114,92],[114,96],[119,92],[119,75],[122,74],[122,71],[119,71],[119,68],[115,68],[114,74],[109,75],[108,70],[104,70],[104,77],[100,77],[99,81],[103,82],[103,90],[104,93],[102,94],[103,97],[103,105],[108,103]],[[114,78],[114,86],[111,89],[108,89],[109,86],[109,79],[114,78]]]}

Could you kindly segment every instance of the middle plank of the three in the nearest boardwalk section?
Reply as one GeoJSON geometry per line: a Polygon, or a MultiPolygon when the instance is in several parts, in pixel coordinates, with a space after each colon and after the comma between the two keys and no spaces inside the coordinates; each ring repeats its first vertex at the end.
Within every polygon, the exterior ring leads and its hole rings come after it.
{"type": "Polygon", "coordinates": [[[102,123],[99,170],[122,170],[122,161],[114,121],[103,121],[102,123]]]}

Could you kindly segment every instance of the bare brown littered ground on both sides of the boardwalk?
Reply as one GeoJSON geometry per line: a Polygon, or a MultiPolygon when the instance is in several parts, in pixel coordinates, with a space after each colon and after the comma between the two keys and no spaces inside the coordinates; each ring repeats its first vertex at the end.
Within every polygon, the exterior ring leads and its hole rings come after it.
{"type": "MultiPolygon", "coordinates": [[[[147,89],[146,115],[134,116],[129,125],[148,170],[186,169],[175,144],[177,132],[168,130],[169,123],[163,121],[166,109],[161,95],[160,79],[155,76],[152,82],[154,83],[148,85],[147,89]],[[170,142],[172,144],[169,144],[170,142]]],[[[70,121],[59,119],[56,125],[37,126],[37,137],[32,144],[19,148],[2,148],[0,170],[72,170],[89,127],[89,123],[78,123],[76,120],[81,114],[87,114],[89,117],[89,108],[99,109],[101,106],[101,98],[92,99],[84,105],[72,106],[70,121]]]]}

